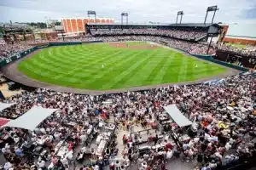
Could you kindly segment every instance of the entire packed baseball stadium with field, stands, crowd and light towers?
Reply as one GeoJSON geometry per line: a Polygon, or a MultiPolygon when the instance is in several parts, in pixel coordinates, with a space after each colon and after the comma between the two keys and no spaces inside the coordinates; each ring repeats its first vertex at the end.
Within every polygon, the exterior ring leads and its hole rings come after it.
{"type": "Polygon", "coordinates": [[[0,165],[253,170],[256,40],[226,37],[218,10],[202,23],[90,10],[44,31],[0,26],[0,165]]]}

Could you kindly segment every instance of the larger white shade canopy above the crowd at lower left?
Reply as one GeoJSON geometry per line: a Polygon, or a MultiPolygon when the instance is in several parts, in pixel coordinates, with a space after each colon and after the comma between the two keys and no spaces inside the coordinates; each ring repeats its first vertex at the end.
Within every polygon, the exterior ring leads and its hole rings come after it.
{"type": "Polygon", "coordinates": [[[50,116],[57,109],[44,109],[41,106],[34,105],[29,111],[8,123],[9,127],[20,127],[28,130],[34,130],[40,122],[50,116]]]}

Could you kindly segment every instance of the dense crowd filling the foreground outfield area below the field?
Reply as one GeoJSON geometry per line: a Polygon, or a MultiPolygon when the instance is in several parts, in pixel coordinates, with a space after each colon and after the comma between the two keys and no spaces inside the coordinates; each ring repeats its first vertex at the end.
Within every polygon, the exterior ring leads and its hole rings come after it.
{"type": "Polygon", "coordinates": [[[34,131],[2,128],[0,145],[6,159],[4,168],[87,170],[102,169],[109,164],[110,169],[119,170],[136,164],[142,170],[165,170],[166,162],[172,165],[173,159],[180,158],[193,161],[195,169],[205,170],[249,161],[256,155],[256,143],[253,143],[256,137],[255,76],[247,72],[213,84],[169,86],[94,97],[46,89],[24,91],[2,100],[15,106],[0,112],[0,116],[15,119],[33,105],[58,110],[34,131]],[[172,104],[193,122],[192,126],[167,123],[160,132],[165,135],[162,139],[158,133],[148,133],[146,142],[163,147],[152,147],[147,153],[141,154],[138,150],[137,143],[142,141],[140,133],[123,136],[123,150],[116,147],[120,142],[116,136],[121,130],[131,131],[131,127],[138,124],[146,128],[159,123],[160,116],[165,114],[164,106],[172,104]],[[111,119],[118,130],[110,139],[111,135],[103,129],[111,127],[111,119]],[[177,138],[173,144],[168,142],[173,133],[177,137],[183,134],[189,137],[183,141],[177,138]],[[108,144],[102,147],[105,138],[109,139],[108,144]],[[92,145],[95,140],[96,145],[92,145]],[[229,150],[233,150],[231,154],[229,150]],[[114,161],[120,152],[124,161],[114,161]],[[87,155],[92,160],[90,165],[84,163],[87,155]]]}

